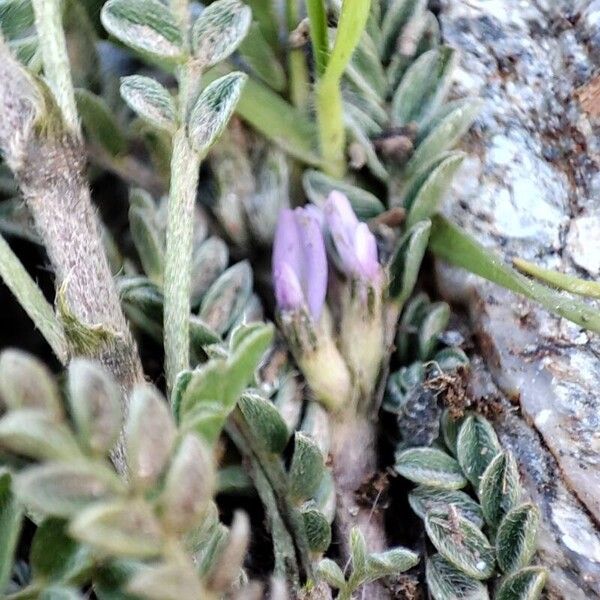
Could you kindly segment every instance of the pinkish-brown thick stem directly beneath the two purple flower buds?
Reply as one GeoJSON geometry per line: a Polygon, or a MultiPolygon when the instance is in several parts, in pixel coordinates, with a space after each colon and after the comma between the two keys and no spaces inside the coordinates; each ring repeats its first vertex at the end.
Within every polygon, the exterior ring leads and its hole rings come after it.
{"type": "MultiPolygon", "coordinates": [[[[332,440],[333,476],[337,491],[336,523],[344,562],[350,559],[348,540],[353,527],[365,537],[369,552],[387,549],[383,512],[377,504],[365,506],[357,492],[377,472],[375,423],[347,417],[336,423],[332,440]]],[[[387,600],[389,591],[378,582],[364,586],[363,598],[387,600]]]]}

